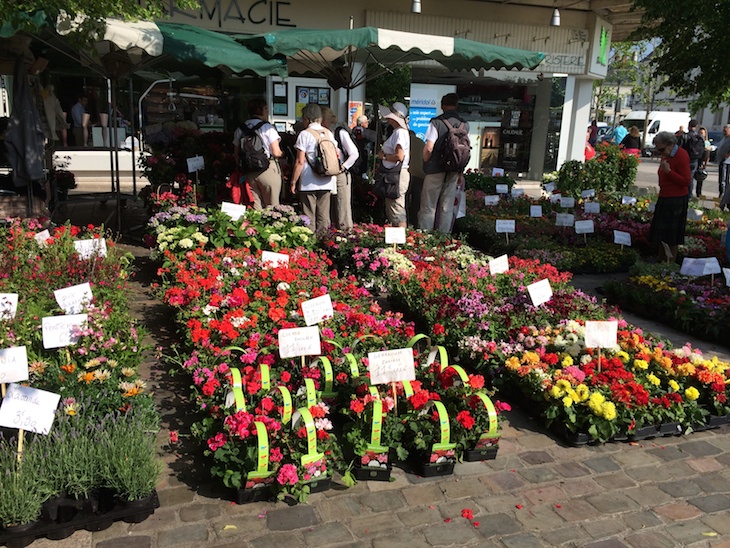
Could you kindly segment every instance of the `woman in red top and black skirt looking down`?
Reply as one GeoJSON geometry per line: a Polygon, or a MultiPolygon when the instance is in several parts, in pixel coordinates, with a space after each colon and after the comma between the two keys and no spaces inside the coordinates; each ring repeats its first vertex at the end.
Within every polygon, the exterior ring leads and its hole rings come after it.
{"type": "Polygon", "coordinates": [[[668,131],[661,131],[654,137],[656,151],[661,154],[659,162],[659,198],[654,217],[651,220],[649,237],[658,248],[660,261],[677,258],[677,248],[684,243],[689,203],[689,183],[692,172],[689,168],[689,154],[677,146],[677,137],[668,131]],[[663,243],[669,246],[671,257],[666,256],[663,243]]]}

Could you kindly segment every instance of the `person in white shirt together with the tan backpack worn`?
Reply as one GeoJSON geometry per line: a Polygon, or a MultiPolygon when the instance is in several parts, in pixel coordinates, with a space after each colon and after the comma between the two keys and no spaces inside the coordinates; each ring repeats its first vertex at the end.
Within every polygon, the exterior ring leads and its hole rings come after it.
{"type": "Polygon", "coordinates": [[[294,148],[297,158],[291,178],[292,194],[297,192],[302,211],[309,218],[309,228],[315,234],[330,226],[330,193],[337,189],[337,174],[342,166],[337,156],[335,136],[322,126],[322,108],[309,103],[302,109],[306,129],[299,132],[294,148]]]}

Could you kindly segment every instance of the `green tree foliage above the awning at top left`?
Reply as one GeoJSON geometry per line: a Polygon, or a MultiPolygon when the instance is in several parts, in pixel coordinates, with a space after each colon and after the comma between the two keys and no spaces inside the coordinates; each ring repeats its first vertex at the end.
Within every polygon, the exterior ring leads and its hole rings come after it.
{"type": "MultiPolygon", "coordinates": [[[[104,29],[104,21],[113,16],[126,20],[162,18],[169,0],[0,0],[0,21],[10,28],[34,32],[39,30],[39,18],[30,14],[44,12],[52,21],[74,22],[75,37],[82,42],[93,41],[104,29]]],[[[199,0],[175,0],[180,9],[200,7],[199,0]]]]}

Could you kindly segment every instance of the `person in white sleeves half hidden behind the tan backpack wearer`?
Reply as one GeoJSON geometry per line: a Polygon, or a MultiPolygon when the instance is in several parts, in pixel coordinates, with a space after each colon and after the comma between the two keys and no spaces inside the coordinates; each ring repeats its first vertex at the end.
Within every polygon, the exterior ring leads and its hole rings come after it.
{"type": "Polygon", "coordinates": [[[342,172],[337,175],[337,192],[332,193],[332,226],[349,230],[352,228],[352,174],[350,168],[360,157],[357,145],[352,141],[350,132],[337,126],[337,117],[332,109],[322,107],[322,125],[333,132],[337,142],[337,153],[342,161],[342,172]],[[346,159],[345,159],[346,158],[346,159]],[[343,161],[344,160],[344,161],[343,161]]]}

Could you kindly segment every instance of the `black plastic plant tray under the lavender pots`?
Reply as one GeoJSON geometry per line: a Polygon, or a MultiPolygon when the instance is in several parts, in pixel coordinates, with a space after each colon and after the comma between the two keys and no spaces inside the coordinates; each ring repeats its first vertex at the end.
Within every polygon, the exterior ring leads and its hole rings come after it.
{"type": "Polygon", "coordinates": [[[155,508],[159,508],[159,506],[160,501],[157,498],[157,492],[153,492],[151,496],[143,501],[133,503],[119,501],[103,513],[94,513],[90,504],[83,504],[72,517],[64,522],[44,516],[27,528],[0,529],[0,545],[5,545],[8,548],[24,548],[36,539],[43,537],[60,540],[81,529],[101,531],[119,520],[140,523],[150,517],[155,508]]]}

